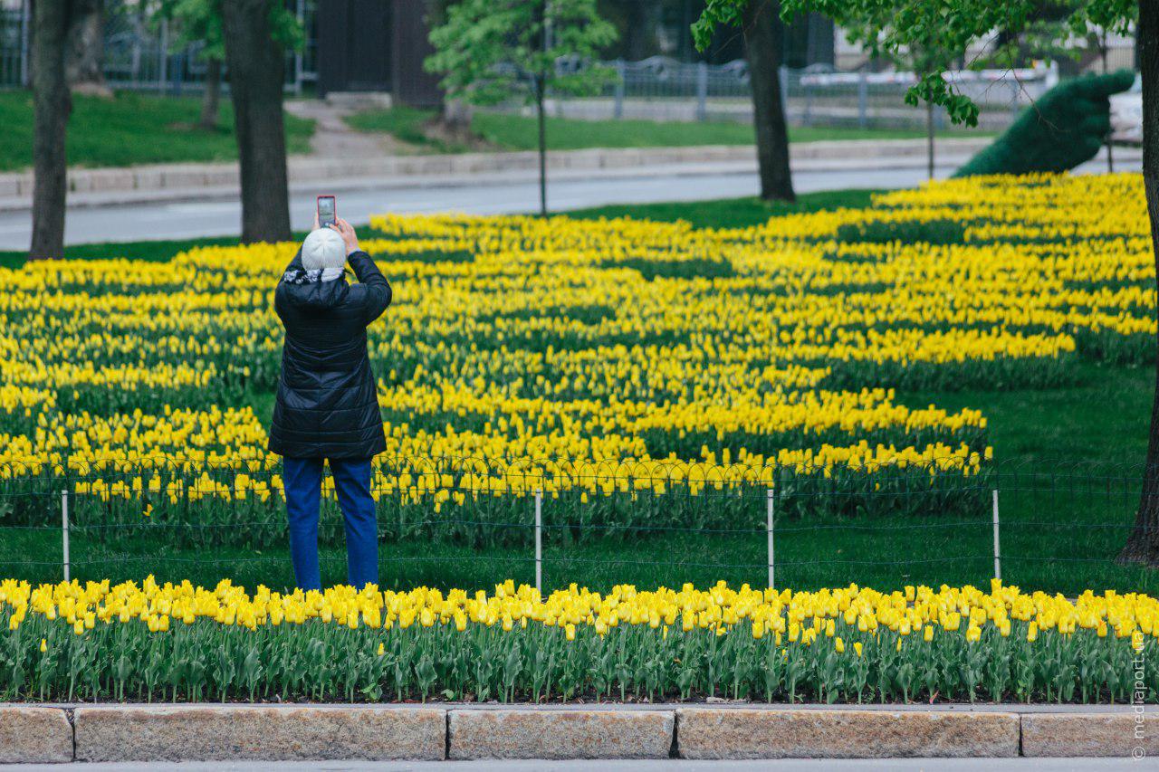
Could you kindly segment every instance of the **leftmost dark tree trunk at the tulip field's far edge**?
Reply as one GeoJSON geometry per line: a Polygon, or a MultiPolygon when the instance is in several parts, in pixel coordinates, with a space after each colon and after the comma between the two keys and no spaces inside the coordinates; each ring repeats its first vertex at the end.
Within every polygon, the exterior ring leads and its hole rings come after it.
{"type": "Polygon", "coordinates": [[[65,248],[68,166],[65,129],[72,97],[65,49],[72,21],[66,0],[38,0],[32,8],[32,242],[30,260],[60,257],[65,248]]]}

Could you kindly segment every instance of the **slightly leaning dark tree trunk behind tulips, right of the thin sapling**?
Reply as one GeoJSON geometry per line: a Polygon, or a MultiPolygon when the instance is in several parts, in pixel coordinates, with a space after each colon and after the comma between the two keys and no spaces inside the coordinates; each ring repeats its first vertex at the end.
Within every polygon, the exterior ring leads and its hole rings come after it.
{"type": "Polygon", "coordinates": [[[752,124],[757,132],[760,197],[796,201],[789,172],[789,134],[781,102],[779,0],[750,0],[744,8],[744,50],[752,85],[752,124]]]}

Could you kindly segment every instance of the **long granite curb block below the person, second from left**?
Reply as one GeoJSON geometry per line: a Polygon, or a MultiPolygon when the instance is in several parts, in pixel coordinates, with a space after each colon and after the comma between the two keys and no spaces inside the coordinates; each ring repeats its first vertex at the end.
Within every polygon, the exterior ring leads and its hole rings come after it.
{"type": "Polygon", "coordinates": [[[440,760],[446,711],[340,706],[79,707],[78,762],[440,760]]]}

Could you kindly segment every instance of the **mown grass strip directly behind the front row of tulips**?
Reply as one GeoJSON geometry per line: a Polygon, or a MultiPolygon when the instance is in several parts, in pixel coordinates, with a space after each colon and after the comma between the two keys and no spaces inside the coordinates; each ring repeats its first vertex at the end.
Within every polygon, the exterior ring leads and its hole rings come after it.
{"type": "MultiPolygon", "coordinates": [[[[280,507],[280,504],[271,504],[280,507]]],[[[545,507],[549,502],[545,502],[545,507]]],[[[323,519],[340,517],[327,507],[323,519]]],[[[882,590],[905,584],[941,583],[986,587],[992,570],[989,516],[979,514],[968,525],[962,520],[939,523],[938,517],[906,519],[883,517],[840,522],[832,518],[788,519],[777,532],[778,587],[818,589],[851,582],[882,590]],[[844,526],[844,527],[843,527],[844,526]],[[853,526],[853,527],[848,527],[853,526]]],[[[1117,549],[1121,534],[1073,541],[1043,540],[1041,533],[1007,531],[1009,558],[1003,575],[1025,589],[1058,591],[1070,596],[1085,589],[1159,591],[1159,573],[1115,565],[1103,551],[1117,549]],[[1111,544],[1114,542],[1114,544],[1111,544]],[[1028,552],[1028,549],[1030,552],[1028,552]],[[1015,553],[1018,551],[1018,553],[1015,553]],[[1065,556],[1092,555],[1106,560],[1067,562],[1065,556]],[[1034,558],[1027,560],[1026,558],[1034,558]]],[[[190,580],[212,587],[231,578],[250,589],[265,584],[285,589],[293,584],[289,549],[246,546],[181,547],[165,537],[96,540],[74,531],[71,544],[72,576],[82,581],[137,580],[152,574],[159,582],[190,580]]],[[[533,582],[531,545],[475,548],[431,539],[382,540],[381,585],[408,589],[421,584],[442,589],[487,589],[504,578],[533,582]]],[[[345,549],[321,548],[325,584],[345,580],[345,549]]],[[[56,529],[6,532],[0,544],[0,576],[35,582],[61,576],[61,541],[56,529]]],[[[767,577],[765,533],[759,527],[736,534],[659,533],[621,540],[560,542],[559,531],[545,531],[544,584],[546,589],[581,587],[606,591],[615,584],[641,589],[679,588],[685,582],[708,587],[719,580],[734,585],[764,585],[767,577]]]]}

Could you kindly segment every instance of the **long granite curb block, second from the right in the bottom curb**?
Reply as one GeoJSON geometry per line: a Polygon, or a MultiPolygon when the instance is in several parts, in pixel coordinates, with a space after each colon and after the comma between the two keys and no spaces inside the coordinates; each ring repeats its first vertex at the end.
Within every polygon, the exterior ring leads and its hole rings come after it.
{"type": "Polygon", "coordinates": [[[1016,713],[680,708],[680,758],[1019,755],[1016,713]]]}

